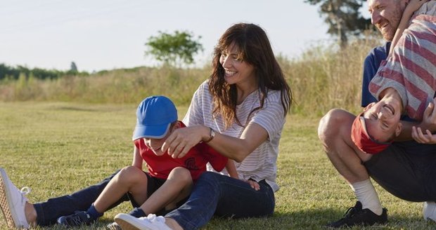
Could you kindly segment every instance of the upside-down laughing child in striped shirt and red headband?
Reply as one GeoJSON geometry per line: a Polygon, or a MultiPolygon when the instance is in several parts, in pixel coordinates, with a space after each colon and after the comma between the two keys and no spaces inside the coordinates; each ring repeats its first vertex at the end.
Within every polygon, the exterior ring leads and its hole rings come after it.
{"type": "Polygon", "coordinates": [[[432,102],[436,90],[436,16],[425,13],[434,12],[434,8],[436,1],[412,0],[406,6],[390,55],[369,84],[369,91],[379,101],[369,104],[352,126],[352,140],[361,151],[383,151],[401,133],[402,114],[421,121],[425,107],[432,102]]]}

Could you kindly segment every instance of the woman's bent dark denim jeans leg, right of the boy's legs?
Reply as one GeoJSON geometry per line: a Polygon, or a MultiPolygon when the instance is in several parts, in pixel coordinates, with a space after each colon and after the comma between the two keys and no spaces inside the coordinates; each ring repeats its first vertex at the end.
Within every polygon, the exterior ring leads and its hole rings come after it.
{"type": "Polygon", "coordinates": [[[255,191],[250,184],[215,172],[204,172],[188,201],[165,217],[185,229],[198,229],[213,215],[219,217],[262,217],[274,213],[274,191],[262,180],[255,191]]]}

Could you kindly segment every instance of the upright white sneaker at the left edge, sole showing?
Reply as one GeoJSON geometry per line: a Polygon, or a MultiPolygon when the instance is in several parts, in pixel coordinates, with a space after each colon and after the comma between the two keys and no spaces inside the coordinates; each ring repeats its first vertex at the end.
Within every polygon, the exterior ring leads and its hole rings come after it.
{"type": "Polygon", "coordinates": [[[28,194],[30,189],[24,187],[18,190],[11,180],[9,180],[6,171],[0,168],[0,208],[6,219],[8,228],[28,229],[24,208],[27,198],[25,194],[28,194]]]}

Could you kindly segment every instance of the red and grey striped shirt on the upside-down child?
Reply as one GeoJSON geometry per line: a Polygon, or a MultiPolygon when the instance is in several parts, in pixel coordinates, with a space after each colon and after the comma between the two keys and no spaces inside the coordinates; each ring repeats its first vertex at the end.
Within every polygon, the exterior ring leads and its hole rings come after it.
{"type": "Polygon", "coordinates": [[[404,30],[392,57],[382,62],[369,84],[376,98],[386,88],[397,90],[411,119],[423,119],[436,90],[436,16],[416,15],[404,30]]]}

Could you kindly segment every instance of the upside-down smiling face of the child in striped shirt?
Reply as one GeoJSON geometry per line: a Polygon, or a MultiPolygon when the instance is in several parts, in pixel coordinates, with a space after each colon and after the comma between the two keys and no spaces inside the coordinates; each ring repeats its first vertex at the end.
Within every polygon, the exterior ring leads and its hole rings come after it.
{"type": "Polygon", "coordinates": [[[380,100],[364,111],[368,135],[377,142],[390,142],[401,133],[401,107],[398,103],[380,100]]]}

